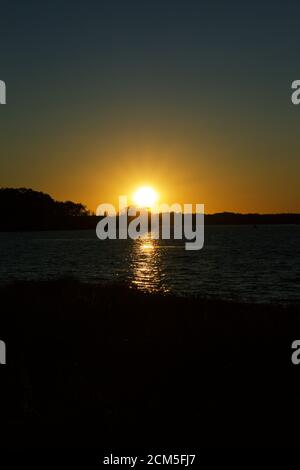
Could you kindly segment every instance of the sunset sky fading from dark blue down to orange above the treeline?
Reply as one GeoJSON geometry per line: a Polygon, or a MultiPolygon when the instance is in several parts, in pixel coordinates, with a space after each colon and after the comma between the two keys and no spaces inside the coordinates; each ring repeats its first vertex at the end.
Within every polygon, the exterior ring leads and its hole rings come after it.
{"type": "Polygon", "coordinates": [[[299,1],[1,5],[0,186],[300,212],[299,1]]]}

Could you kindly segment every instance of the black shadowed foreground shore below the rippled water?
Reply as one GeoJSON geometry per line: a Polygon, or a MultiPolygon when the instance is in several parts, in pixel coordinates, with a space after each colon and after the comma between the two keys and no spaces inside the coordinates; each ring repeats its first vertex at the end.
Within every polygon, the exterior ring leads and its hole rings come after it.
{"type": "Polygon", "coordinates": [[[299,313],[75,281],[4,286],[2,445],[298,446],[299,313]]]}

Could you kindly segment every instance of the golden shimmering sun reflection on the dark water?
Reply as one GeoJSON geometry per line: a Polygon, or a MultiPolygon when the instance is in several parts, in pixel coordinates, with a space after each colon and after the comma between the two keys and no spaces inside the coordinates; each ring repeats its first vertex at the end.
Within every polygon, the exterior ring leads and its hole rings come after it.
{"type": "Polygon", "coordinates": [[[161,247],[150,234],[134,240],[130,265],[136,287],[146,292],[168,292],[164,286],[161,247]]]}

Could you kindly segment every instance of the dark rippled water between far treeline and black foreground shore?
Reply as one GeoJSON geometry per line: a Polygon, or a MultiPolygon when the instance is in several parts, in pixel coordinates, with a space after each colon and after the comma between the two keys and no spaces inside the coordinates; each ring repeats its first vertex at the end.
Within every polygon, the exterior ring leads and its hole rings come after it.
{"type": "Polygon", "coordinates": [[[100,241],[94,231],[0,233],[0,282],[127,282],[146,291],[255,302],[300,301],[300,226],[207,226],[204,248],[181,241],[100,241]]]}

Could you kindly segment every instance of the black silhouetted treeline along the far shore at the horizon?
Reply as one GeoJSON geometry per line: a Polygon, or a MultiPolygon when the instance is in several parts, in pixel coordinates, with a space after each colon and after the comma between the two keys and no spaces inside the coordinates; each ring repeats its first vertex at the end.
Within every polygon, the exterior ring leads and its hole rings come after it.
{"type": "MultiPolygon", "coordinates": [[[[49,194],[28,188],[0,188],[0,211],[0,231],[95,229],[100,219],[81,203],[56,201],[49,194]]],[[[172,213],[171,224],[173,221],[172,213]]],[[[300,224],[300,214],[222,212],[206,214],[205,224],[300,224]]]]}

